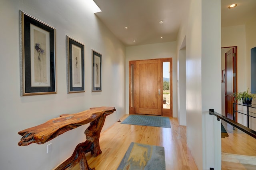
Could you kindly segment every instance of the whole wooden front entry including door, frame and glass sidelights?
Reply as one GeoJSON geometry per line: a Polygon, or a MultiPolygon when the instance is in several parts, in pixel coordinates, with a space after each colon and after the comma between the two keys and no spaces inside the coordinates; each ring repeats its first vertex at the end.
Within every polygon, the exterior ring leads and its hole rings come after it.
{"type": "Polygon", "coordinates": [[[129,114],[172,117],[172,58],[129,61],[129,114]]]}

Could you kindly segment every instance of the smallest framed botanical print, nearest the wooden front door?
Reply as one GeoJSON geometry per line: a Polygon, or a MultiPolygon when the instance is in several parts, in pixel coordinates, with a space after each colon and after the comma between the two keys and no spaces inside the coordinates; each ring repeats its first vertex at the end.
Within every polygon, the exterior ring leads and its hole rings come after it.
{"type": "Polygon", "coordinates": [[[102,91],[102,54],[92,50],[92,92],[102,91]]]}

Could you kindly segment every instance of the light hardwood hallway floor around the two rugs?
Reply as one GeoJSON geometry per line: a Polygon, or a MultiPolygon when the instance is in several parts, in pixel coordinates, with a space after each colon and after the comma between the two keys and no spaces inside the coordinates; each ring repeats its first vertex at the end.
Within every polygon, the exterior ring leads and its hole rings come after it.
{"type": "MultiPolygon", "coordinates": [[[[128,115],[121,118],[123,121],[128,115]]],[[[186,126],[170,118],[172,128],[138,126],[116,122],[100,135],[102,154],[94,158],[86,154],[90,168],[116,170],[131,142],[163,146],[166,170],[198,170],[186,144],[186,126]]],[[[80,170],[77,164],[72,170],[80,170]]]]}

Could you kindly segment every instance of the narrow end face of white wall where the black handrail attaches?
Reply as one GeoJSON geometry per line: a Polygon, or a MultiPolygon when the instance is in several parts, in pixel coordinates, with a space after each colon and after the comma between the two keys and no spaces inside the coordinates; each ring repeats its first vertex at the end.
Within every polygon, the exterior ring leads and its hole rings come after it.
{"type": "Polygon", "coordinates": [[[210,108],[221,113],[221,74],[217,71],[221,69],[220,6],[220,0],[202,0],[202,128],[203,144],[206,145],[203,169],[221,169],[220,121],[209,115],[210,108]],[[211,138],[214,140],[209,140],[211,138]]]}

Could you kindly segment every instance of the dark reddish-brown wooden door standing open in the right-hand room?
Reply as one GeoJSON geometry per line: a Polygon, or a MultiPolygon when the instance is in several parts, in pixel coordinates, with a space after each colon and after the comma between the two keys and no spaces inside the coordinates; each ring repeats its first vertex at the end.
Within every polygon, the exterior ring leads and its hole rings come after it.
{"type": "Polygon", "coordinates": [[[225,108],[226,117],[233,119],[233,96],[236,86],[236,69],[235,69],[235,48],[226,52],[226,94],[225,94],[225,108]]]}

